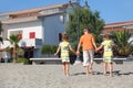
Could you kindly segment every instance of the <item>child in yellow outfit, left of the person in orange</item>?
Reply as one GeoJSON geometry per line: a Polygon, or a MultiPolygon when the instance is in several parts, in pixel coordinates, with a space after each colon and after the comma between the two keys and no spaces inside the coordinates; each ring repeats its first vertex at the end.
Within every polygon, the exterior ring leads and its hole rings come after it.
{"type": "Polygon", "coordinates": [[[65,33],[62,33],[62,42],[59,44],[59,47],[57,50],[57,55],[61,50],[61,61],[63,64],[63,73],[65,76],[69,76],[69,50],[75,54],[75,51],[71,47],[70,43],[68,42],[68,36],[65,33]]]}

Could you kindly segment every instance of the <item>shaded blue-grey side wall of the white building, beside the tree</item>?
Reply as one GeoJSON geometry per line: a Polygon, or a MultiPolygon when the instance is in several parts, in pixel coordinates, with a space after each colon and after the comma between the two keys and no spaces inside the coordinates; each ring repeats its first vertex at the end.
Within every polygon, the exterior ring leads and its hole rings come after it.
{"type": "Polygon", "coordinates": [[[43,44],[58,45],[59,33],[64,32],[64,23],[60,20],[61,14],[44,16],[43,25],[43,44]]]}

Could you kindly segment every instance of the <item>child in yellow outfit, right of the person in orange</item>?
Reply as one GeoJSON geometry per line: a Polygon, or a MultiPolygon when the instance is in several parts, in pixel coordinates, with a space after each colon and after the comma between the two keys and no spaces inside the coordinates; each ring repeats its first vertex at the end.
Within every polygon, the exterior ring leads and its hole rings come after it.
{"type": "Polygon", "coordinates": [[[106,67],[109,64],[109,68],[110,68],[110,76],[113,76],[113,47],[114,43],[113,41],[110,38],[109,34],[104,35],[104,41],[101,43],[101,45],[96,48],[96,52],[99,50],[101,50],[102,47],[104,47],[104,53],[103,53],[103,67],[104,67],[104,75],[106,75],[106,67]]]}

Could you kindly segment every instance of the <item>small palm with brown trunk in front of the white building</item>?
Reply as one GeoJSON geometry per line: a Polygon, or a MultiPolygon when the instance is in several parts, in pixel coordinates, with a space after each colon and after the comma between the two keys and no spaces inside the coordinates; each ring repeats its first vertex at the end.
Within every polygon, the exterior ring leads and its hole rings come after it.
{"type": "Polygon", "coordinates": [[[18,37],[17,34],[12,34],[9,36],[8,41],[13,45],[13,51],[12,51],[12,58],[13,58],[13,63],[17,63],[17,54],[18,54],[18,43],[20,42],[21,37],[18,37]]]}

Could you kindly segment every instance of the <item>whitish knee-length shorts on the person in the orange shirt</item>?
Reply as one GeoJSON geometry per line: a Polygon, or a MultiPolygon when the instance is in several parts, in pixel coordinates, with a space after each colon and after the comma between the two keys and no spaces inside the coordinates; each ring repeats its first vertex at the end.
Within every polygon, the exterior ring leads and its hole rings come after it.
{"type": "Polygon", "coordinates": [[[93,63],[94,51],[83,51],[83,66],[89,66],[93,63]]]}

